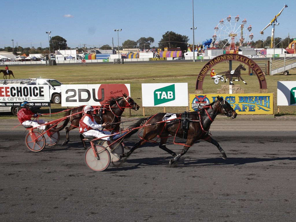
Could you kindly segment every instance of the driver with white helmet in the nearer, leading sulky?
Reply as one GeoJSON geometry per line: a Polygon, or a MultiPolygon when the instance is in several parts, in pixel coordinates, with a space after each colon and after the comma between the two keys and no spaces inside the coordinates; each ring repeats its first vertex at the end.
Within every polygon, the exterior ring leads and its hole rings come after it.
{"type": "Polygon", "coordinates": [[[96,120],[94,120],[93,116],[94,107],[85,106],[83,108],[83,117],[79,121],[79,132],[85,136],[94,136],[96,138],[101,138],[102,140],[117,140],[125,133],[117,134],[114,136],[108,136],[111,134],[110,131],[103,131],[103,128],[106,126],[110,126],[110,123],[98,124],[96,120]],[[104,137],[104,138],[102,138],[104,137]]]}

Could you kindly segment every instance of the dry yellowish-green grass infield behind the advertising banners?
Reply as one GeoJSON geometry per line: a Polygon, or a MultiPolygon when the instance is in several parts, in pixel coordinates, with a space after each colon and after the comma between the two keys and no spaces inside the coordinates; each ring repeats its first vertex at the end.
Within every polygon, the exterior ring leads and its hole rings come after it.
{"type": "MultiPolygon", "coordinates": [[[[257,63],[266,63],[256,61],[257,63]]],[[[93,64],[93,65],[29,65],[10,66],[15,78],[53,78],[64,84],[108,84],[108,83],[129,83],[131,84],[131,96],[141,106],[141,83],[188,83],[188,93],[195,91],[197,75],[205,65],[205,62],[162,62],[162,63],[126,63],[126,64],[93,64]]],[[[233,69],[239,65],[232,62],[233,69]]],[[[229,70],[229,63],[221,62],[215,65],[215,72],[229,70]]],[[[277,81],[296,81],[296,70],[290,70],[290,75],[266,75],[268,93],[274,93],[274,104],[276,104],[277,81]]],[[[248,75],[248,68],[242,71],[242,77],[247,82],[240,84],[245,93],[259,93],[259,82],[256,75],[248,75]]],[[[228,82],[227,82],[228,83],[228,82]]],[[[207,93],[217,93],[222,84],[215,85],[207,73],[203,83],[203,91],[207,93]]],[[[187,99],[187,98],[186,98],[187,99]]],[[[52,104],[52,112],[64,110],[67,107],[52,104]]],[[[166,112],[184,112],[186,107],[166,107],[166,112]]],[[[48,113],[49,109],[43,107],[43,113],[48,113]]],[[[163,112],[163,107],[145,107],[145,115],[152,115],[163,112]]],[[[274,106],[274,113],[277,114],[277,106],[274,106]]],[[[62,114],[58,115],[61,116],[62,114]]],[[[132,116],[142,116],[143,109],[131,111],[132,116]]],[[[280,115],[296,115],[295,106],[281,106],[280,115]]],[[[129,112],[124,112],[124,116],[129,116],[129,112]]],[[[0,114],[1,118],[7,116],[0,114]]],[[[55,117],[53,117],[55,118],[55,117]]]]}

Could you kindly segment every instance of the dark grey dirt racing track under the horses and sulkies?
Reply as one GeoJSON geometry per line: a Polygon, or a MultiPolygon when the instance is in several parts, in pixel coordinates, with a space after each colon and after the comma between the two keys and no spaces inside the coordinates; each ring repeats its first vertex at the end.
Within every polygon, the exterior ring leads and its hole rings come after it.
{"type": "Polygon", "coordinates": [[[16,125],[0,124],[0,221],[296,221],[295,117],[217,118],[227,160],[201,141],[170,166],[149,143],[103,172],[85,165],[78,130],[36,153],[16,125]]]}

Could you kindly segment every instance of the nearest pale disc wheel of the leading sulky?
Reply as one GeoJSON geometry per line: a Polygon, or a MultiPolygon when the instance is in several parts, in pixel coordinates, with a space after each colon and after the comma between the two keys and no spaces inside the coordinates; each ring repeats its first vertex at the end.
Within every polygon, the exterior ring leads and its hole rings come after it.
{"type": "Polygon", "coordinates": [[[93,171],[104,171],[110,165],[111,157],[109,151],[101,146],[95,144],[95,150],[97,152],[98,157],[95,156],[92,147],[86,149],[84,161],[85,164],[93,171]]]}

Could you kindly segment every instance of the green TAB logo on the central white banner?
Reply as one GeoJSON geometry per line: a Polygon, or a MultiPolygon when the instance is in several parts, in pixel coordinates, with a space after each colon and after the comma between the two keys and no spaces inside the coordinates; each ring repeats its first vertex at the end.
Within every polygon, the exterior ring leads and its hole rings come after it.
{"type": "Polygon", "coordinates": [[[175,84],[154,91],[154,105],[175,100],[175,84]]]}

